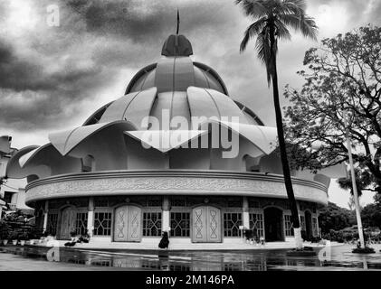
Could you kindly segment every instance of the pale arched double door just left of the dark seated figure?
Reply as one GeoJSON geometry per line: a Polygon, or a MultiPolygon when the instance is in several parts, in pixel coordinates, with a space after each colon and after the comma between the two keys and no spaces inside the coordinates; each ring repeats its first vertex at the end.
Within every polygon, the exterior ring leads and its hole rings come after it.
{"type": "Polygon", "coordinates": [[[115,209],[114,241],[140,242],[141,240],[141,209],[126,205],[115,209]]]}

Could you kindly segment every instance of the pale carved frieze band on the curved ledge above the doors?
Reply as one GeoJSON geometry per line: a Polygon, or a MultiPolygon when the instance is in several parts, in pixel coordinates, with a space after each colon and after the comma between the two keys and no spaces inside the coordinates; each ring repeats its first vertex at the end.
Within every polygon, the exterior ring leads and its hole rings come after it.
{"type": "MultiPolygon", "coordinates": [[[[308,184],[308,182],[307,182],[308,184]]],[[[293,184],[295,196],[300,200],[327,203],[326,191],[316,186],[293,184]]],[[[192,176],[126,176],[105,178],[64,178],[35,183],[27,188],[26,201],[62,197],[120,195],[120,194],[186,194],[186,195],[235,195],[286,198],[283,182],[258,178],[226,178],[192,176]]]]}

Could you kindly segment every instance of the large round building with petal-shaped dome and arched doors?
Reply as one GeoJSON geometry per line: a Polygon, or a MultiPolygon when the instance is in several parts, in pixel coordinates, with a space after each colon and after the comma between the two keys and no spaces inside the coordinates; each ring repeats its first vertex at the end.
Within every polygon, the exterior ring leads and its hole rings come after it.
{"type": "MultiPolygon", "coordinates": [[[[40,228],[60,240],[89,233],[90,246],[111,247],[157,247],[164,230],[177,248],[242,243],[243,228],[293,240],[276,129],[192,54],[185,36],[170,35],[124,96],[14,155],[7,176],[27,178],[40,228]]],[[[330,179],[292,176],[302,228],[318,236],[330,179]]]]}

